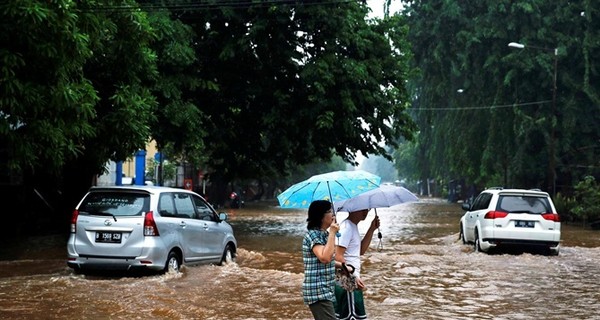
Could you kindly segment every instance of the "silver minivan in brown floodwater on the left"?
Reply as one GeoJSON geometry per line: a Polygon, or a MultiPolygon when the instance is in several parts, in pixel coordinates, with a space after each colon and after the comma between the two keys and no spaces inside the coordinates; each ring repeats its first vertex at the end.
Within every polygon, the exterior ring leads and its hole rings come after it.
{"type": "Polygon", "coordinates": [[[92,187],[73,212],[67,264],[178,272],[183,264],[234,261],[237,241],[226,220],[185,189],[92,187]]]}

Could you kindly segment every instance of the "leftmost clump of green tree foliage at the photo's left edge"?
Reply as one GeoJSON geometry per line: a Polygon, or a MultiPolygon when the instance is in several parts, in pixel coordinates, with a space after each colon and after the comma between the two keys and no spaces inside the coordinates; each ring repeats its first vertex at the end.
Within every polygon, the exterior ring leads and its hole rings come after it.
{"type": "Polygon", "coordinates": [[[0,146],[11,171],[58,172],[96,135],[92,55],[68,0],[0,4],[0,146]]]}

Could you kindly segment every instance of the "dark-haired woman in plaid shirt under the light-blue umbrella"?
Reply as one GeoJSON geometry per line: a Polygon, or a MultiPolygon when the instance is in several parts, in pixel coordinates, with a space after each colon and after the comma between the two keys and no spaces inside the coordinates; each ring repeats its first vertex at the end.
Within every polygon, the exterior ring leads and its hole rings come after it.
{"type": "Polygon", "coordinates": [[[313,201],[306,221],[308,231],[302,241],[304,304],[309,306],[315,319],[335,319],[335,268],[340,263],[336,263],[334,252],[335,236],[340,226],[335,221],[331,202],[313,201]]]}

